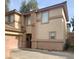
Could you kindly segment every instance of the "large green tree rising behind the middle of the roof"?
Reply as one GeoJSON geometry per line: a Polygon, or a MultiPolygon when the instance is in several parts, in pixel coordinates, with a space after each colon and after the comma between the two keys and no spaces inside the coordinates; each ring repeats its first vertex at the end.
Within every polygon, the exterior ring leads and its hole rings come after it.
{"type": "Polygon", "coordinates": [[[25,13],[30,10],[36,10],[37,8],[38,8],[38,4],[36,0],[30,0],[27,4],[26,1],[23,1],[20,7],[20,12],[25,13]]]}

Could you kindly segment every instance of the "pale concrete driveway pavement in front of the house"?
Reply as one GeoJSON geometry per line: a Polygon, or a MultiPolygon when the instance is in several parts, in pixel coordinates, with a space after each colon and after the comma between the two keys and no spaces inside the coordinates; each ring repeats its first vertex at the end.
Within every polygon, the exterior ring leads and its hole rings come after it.
{"type": "Polygon", "coordinates": [[[73,53],[68,52],[15,50],[11,54],[11,59],[74,59],[73,56],[73,53]]]}

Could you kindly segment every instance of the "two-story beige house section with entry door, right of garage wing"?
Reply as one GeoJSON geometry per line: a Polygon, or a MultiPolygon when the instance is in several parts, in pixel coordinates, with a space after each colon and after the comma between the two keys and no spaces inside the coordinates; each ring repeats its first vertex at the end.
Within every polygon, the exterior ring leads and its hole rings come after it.
{"type": "Polygon", "coordinates": [[[63,50],[67,39],[66,2],[24,13],[26,48],[63,50]]]}

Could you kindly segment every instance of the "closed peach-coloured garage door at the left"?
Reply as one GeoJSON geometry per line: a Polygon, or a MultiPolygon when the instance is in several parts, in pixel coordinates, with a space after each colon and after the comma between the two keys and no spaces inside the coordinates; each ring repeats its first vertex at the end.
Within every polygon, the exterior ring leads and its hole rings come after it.
{"type": "Polygon", "coordinates": [[[5,49],[6,49],[6,56],[9,57],[10,53],[13,49],[18,48],[18,38],[17,36],[5,36],[5,49]]]}

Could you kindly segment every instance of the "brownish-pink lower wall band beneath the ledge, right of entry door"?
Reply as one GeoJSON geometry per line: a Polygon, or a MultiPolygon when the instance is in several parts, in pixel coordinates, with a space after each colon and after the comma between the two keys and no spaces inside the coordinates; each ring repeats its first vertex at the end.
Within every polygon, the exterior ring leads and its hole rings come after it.
{"type": "Polygon", "coordinates": [[[32,41],[32,48],[46,50],[63,50],[64,43],[56,41],[32,41]]]}

